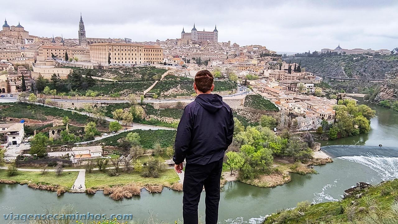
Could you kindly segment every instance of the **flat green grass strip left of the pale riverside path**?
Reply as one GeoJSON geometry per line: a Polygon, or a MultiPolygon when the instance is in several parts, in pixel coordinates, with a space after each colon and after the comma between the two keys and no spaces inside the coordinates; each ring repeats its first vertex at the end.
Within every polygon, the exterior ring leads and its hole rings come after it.
{"type": "Polygon", "coordinates": [[[8,177],[6,172],[6,170],[0,169],[0,179],[17,181],[18,183],[32,181],[33,183],[60,185],[63,187],[72,187],[78,175],[78,172],[67,171],[64,171],[60,176],[57,176],[55,172],[47,172],[41,175],[40,172],[18,171],[17,175],[8,177]]]}

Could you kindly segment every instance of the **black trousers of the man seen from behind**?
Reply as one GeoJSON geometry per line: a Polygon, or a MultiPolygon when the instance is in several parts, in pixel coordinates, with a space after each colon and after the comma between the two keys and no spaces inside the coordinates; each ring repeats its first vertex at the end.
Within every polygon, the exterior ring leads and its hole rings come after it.
{"type": "Polygon", "coordinates": [[[217,224],[220,201],[222,159],[206,165],[185,165],[183,182],[184,224],[198,223],[198,204],[205,186],[206,224],[217,224]]]}

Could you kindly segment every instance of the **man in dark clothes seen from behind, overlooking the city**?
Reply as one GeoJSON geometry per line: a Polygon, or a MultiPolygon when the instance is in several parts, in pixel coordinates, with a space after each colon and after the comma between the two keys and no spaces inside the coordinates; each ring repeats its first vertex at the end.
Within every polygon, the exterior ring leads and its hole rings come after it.
{"type": "Polygon", "coordinates": [[[206,224],[216,224],[220,201],[222,159],[234,134],[231,108],[222,97],[211,94],[213,75],[199,71],[193,89],[195,101],[185,107],[178,125],[174,169],[181,173],[186,160],[183,182],[184,224],[198,223],[198,204],[203,186],[206,192],[206,224]]]}

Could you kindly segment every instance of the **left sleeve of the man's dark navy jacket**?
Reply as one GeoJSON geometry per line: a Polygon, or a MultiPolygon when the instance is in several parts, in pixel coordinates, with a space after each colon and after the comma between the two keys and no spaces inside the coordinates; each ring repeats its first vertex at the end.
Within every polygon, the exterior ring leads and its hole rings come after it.
{"type": "Polygon", "coordinates": [[[187,150],[191,143],[191,133],[193,127],[193,116],[190,107],[185,107],[181,120],[179,121],[176,141],[174,143],[173,161],[176,164],[182,163],[185,159],[187,150]]]}

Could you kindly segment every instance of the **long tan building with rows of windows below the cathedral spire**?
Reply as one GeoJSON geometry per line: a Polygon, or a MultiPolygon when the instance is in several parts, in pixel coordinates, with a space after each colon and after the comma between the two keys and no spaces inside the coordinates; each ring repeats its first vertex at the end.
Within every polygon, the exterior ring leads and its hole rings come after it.
{"type": "Polygon", "coordinates": [[[163,63],[163,49],[159,45],[93,43],[90,44],[90,61],[101,65],[161,64],[163,63]]]}

